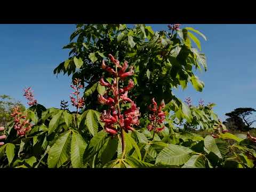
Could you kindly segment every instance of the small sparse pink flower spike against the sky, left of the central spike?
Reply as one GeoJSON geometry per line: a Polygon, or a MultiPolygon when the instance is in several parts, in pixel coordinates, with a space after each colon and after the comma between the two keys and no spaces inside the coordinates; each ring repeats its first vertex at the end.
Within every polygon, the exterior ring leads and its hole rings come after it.
{"type": "Polygon", "coordinates": [[[70,94],[69,98],[72,102],[72,105],[78,108],[84,107],[84,98],[79,98],[79,89],[83,89],[83,85],[80,85],[81,79],[75,78],[73,81],[74,85],[70,85],[70,87],[74,90],[73,93],[70,94]],[[75,95],[76,98],[73,97],[75,95]]]}

